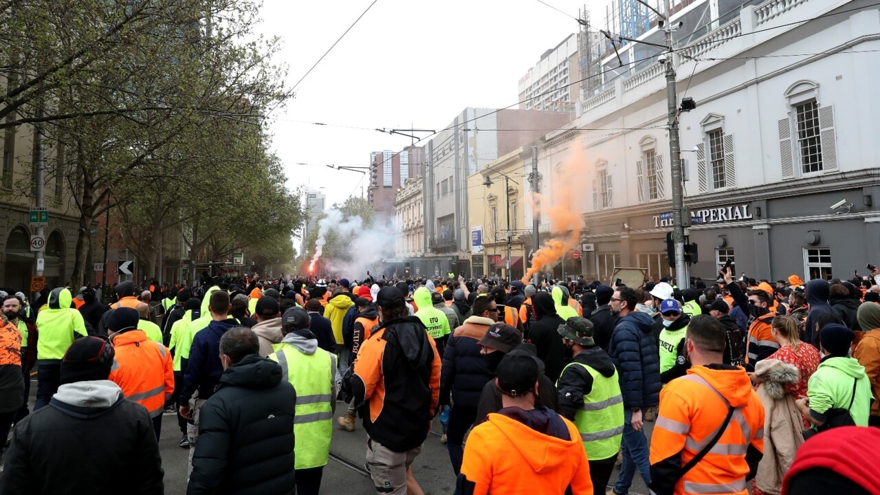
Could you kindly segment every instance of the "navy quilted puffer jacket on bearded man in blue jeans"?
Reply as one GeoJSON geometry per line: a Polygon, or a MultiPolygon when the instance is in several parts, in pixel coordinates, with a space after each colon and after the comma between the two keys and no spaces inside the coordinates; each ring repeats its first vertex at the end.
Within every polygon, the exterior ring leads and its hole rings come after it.
{"type": "Polygon", "coordinates": [[[660,351],[653,328],[654,321],[647,313],[627,314],[617,322],[608,344],[627,408],[644,409],[660,403],[660,351]]]}

